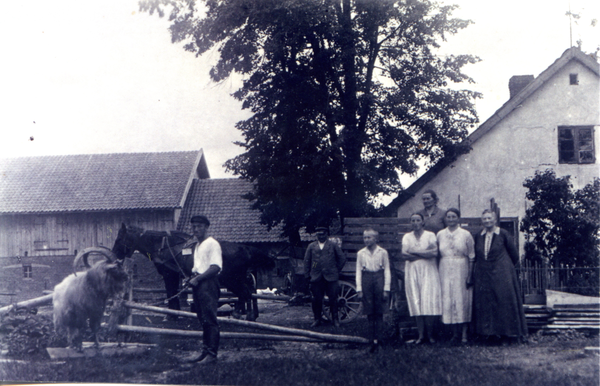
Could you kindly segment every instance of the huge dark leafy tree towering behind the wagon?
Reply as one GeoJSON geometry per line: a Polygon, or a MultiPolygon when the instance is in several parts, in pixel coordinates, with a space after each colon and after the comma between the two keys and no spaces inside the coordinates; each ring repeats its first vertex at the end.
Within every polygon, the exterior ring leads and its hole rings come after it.
{"type": "Polygon", "coordinates": [[[376,195],[464,149],[479,95],[462,67],[437,55],[470,23],[428,0],[145,0],[169,13],[174,42],[216,50],[210,75],[244,75],[234,94],[252,116],[237,124],[245,152],[226,163],[255,182],[248,195],[269,226],[298,240],[332,218],[365,215],[376,195]]]}

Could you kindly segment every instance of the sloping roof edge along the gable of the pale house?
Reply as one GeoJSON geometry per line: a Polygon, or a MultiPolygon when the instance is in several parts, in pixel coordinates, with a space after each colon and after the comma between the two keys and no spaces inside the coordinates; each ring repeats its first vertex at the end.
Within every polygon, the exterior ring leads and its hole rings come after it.
{"type": "MultiPolygon", "coordinates": [[[[542,72],[537,78],[531,81],[526,87],[519,91],[516,95],[510,98],[502,107],[482,123],[475,131],[473,131],[466,139],[466,143],[472,146],[477,140],[487,134],[493,129],[501,120],[503,120],[513,110],[518,108],[525,99],[529,98],[531,94],[537,91],[546,81],[548,81],[554,74],[562,69],[571,60],[577,60],[584,66],[589,68],[594,74],[600,76],[600,66],[598,62],[589,55],[583,53],[577,47],[571,47],[567,49],[560,58],[558,58],[550,67],[542,72]]],[[[423,188],[428,182],[433,180],[444,168],[454,162],[453,158],[442,158],[435,165],[433,165],[427,172],[413,182],[408,188],[400,192],[386,208],[385,214],[395,215],[395,211],[404,204],[408,199],[413,197],[417,192],[423,188]]]]}

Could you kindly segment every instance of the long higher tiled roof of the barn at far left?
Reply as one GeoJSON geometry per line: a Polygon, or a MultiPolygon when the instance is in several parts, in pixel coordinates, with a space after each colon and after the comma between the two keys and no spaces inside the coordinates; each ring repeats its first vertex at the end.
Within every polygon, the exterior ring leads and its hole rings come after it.
{"type": "Polygon", "coordinates": [[[202,150],[0,159],[0,214],[182,207],[202,150]]]}

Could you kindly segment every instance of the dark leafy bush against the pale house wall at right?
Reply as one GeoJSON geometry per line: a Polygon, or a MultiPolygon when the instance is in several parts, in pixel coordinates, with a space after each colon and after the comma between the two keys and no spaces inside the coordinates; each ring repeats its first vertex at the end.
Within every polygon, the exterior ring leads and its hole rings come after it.
{"type": "Polygon", "coordinates": [[[537,171],[523,184],[533,202],[521,221],[525,258],[555,268],[598,267],[600,180],[575,191],[569,180],[548,169],[537,171]]]}

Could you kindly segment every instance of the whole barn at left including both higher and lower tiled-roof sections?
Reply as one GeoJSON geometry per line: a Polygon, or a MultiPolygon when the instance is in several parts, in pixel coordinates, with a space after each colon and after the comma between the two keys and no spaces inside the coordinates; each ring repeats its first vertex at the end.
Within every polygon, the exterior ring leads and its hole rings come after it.
{"type": "MultiPolygon", "coordinates": [[[[250,182],[209,177],[202,150],[0,159],[0,304],[51,290],[78,251],[112,247],[121,223],[191,234],[195,214],[210,219],[218,240],[268,250],[277,266],[259,272],[258,284],[279,286],[301,253],[260,223],[243,198],[250,182]]],[[[134,255],[133,269],[134,287],[162,286],[143,256],[134,255]]]]}

